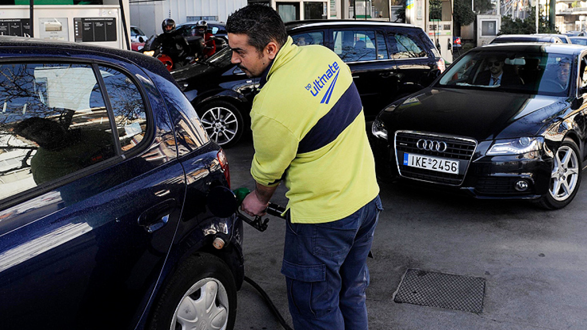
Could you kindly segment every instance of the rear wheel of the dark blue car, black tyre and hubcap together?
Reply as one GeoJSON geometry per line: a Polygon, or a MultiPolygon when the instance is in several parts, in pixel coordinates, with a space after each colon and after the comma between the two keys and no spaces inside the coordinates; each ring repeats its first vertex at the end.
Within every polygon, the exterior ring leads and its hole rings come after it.
{"type": "Polygon", "coordinates": [[[220,258],[202,253],[188,257],[163,289],[149,329],[234,328],[237,285],[220,258]]]}

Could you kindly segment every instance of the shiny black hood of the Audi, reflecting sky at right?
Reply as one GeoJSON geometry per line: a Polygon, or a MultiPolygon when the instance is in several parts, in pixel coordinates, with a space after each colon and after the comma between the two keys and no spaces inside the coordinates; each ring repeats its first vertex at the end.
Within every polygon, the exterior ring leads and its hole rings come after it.
{"type": "Polygon", "coordinates": [[[434,87],[392,103],[379,119],[390,134],[416,130],[481,141],[536,136],[568,107],[565,97],[434,87]]]}

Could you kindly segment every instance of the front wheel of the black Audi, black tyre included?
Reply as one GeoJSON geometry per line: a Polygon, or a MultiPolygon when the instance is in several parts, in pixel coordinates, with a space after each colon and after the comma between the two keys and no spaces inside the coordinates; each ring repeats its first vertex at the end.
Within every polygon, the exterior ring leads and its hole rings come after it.
{"type": "Polygon", "coordinates": [[[579,147],[571,139],[565,139],[555,152],[548,192],[539,198],[538,204],[548,210],[567,206],[581,184],[581,158],[579,147]]]}

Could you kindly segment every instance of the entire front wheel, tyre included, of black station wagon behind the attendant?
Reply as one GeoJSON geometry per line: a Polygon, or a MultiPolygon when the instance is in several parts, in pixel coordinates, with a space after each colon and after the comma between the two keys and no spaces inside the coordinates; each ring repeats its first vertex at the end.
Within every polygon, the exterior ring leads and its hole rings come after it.
{"type": "Polygon", "coordinates": [[[231,103],[208,103],[198,111],[198,115],[210,139],[221,147],[230,148],[241,139],[244,122],[237,107],[231,103]]]}

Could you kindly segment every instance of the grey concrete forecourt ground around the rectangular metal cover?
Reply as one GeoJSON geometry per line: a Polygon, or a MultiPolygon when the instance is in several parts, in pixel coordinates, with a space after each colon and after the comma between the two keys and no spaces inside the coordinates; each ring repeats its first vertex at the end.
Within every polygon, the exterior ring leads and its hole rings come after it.
{"type": "MultiPolygon", "coordinates": [[[[254,187],[252,143],[227,150],[232,188],[254,187]]],[[[583,173],[584,174],[584,173],[583,173]]],[[[369,260],[370,329],[587,329],[587,182],[563,210],[524,201],[475,200],[408,184],[380,184],[383,206],[369,260]],[[409,268],[485,279],[483,312],[393,302],[409,268]]],[[[284,205],[285,188],[272,201],[284,205]]],[[[284,221],[259,233],[245,225],[245,274],[291,325],[279,273],[284,221]]],[[[247,283],[236,329],[280,329],[247,283]]]]}

